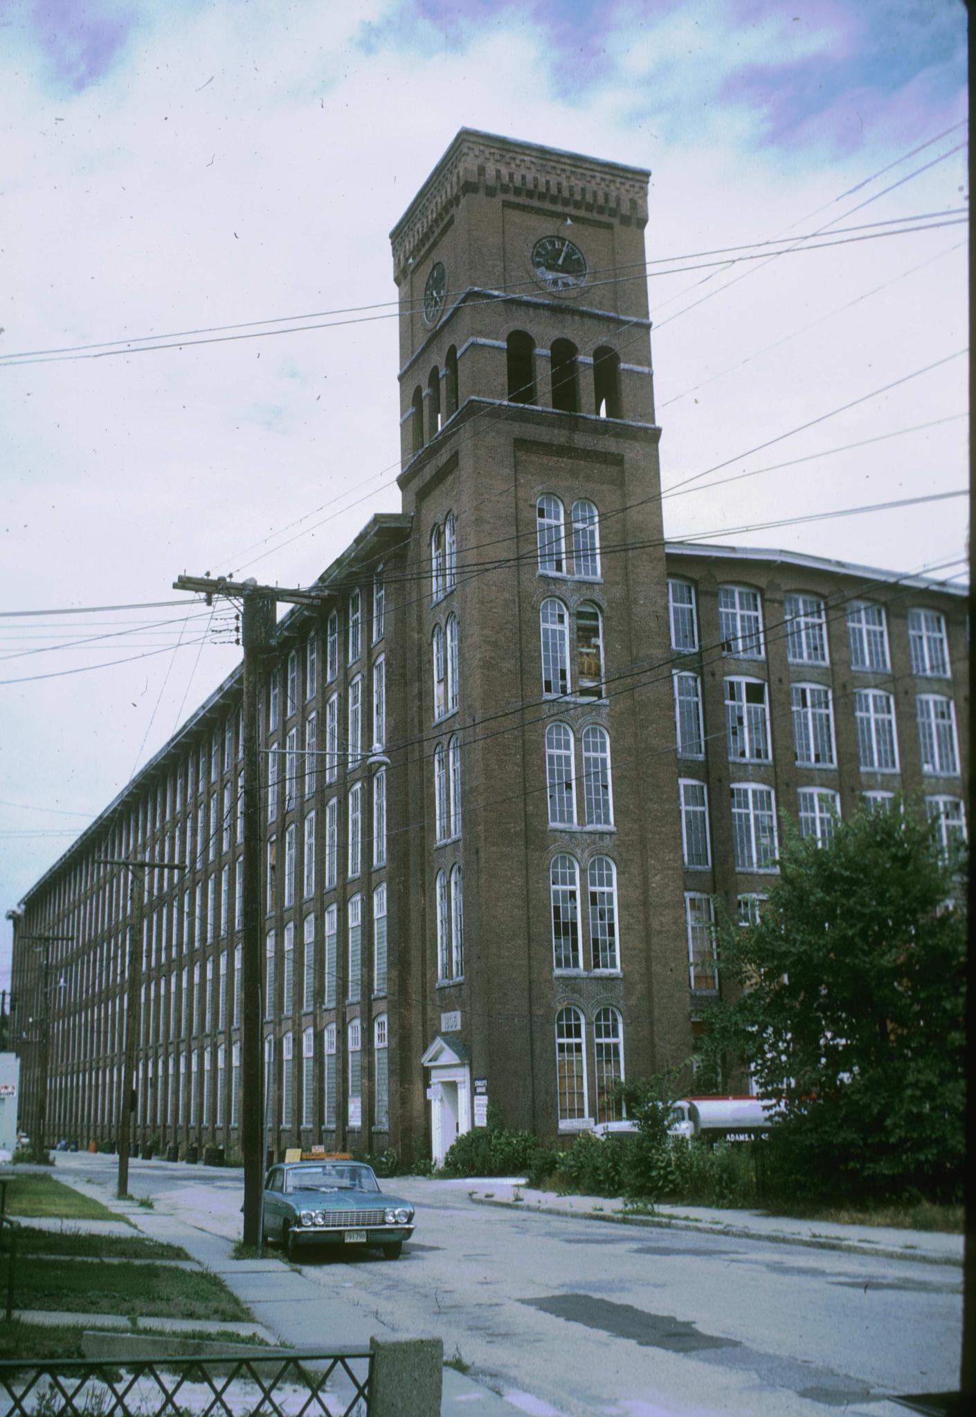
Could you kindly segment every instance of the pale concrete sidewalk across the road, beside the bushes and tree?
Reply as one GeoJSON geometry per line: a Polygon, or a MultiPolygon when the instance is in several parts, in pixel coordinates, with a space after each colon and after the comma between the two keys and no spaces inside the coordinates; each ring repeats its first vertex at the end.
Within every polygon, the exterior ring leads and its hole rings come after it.
{"type": "Polygon", "coordinates": [[[606,1196],[560,1196],[553,1190],[533,1190],[511,1179],[477,1178],[453,1185],[464,1187],[475,1204],[505,1206],[542,1214],[573,1216],[604,1223],[657,1226],[671,1230],[698,1230],[735,1238],[767,1240],[776,1244],[806,1246],[814,1250],[841,1250],[850,1254],[874,1254],[889,1260],[914,1260],[922,1264],[962,1265],[963,1237],[942,1230],[899,1230],[894,1226],[837,1224],[830,1220],[796,1220],[790,1216],[766,1216],[756,1210],[719,1210],[709,1206],[654,1207],[641,1213],[606,1196]],[[519,1199],[516,1199],[519,1197],[519,1199]]]}

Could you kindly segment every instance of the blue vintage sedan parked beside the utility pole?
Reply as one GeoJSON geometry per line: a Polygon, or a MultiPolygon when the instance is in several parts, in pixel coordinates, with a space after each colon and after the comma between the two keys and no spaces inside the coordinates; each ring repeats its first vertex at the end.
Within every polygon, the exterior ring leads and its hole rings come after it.
{"type": "Polygon", "coordinates": [[[289,1260],[308,1246],[380,1246],[399,1260],[413,1234],[413,1206],[380,1190],[372,1166],[359,1161],[284,1162],[264,1182],[264,1238],[289,1260]]]}

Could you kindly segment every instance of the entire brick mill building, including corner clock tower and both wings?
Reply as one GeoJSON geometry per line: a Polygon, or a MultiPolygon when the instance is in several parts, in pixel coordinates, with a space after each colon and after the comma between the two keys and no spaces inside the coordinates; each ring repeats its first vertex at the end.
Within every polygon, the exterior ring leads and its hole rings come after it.
{"type": "Polygon", "coordinates": [[[394,227],[403,510],[267,660],[265,1097],[237,669],[11,911],[27,1129],[47,1047],[48,1141],[118,1135],[136,905],[138,1141],[234,1155],[262,1105],[275,1152],[440,1158],[487,1101],[555,1138],[691,1054],[780,813],[905,792],[965,833],[962,591],[664,540],[647,181],[462,129],[394,227]]]}

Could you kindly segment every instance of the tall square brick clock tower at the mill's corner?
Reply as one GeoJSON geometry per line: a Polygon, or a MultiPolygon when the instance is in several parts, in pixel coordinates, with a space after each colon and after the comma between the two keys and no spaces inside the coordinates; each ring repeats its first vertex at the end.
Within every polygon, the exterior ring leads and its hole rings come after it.
{"type": "Polygon", "coordinates": [[[485,1095],[555,1136],[691,1053],[648,176],[461,129],[392,232],[436,1156],[485,1095]]]}

